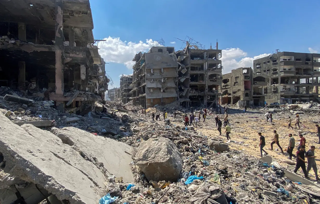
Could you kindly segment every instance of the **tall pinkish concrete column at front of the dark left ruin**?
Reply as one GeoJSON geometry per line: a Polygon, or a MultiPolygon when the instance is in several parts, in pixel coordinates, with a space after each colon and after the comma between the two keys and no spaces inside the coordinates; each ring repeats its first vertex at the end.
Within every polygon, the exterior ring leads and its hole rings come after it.
{"type": "MultiPolygon", "coordinates": [[[[63,95],[64,84],[63,84],[63,64],[62,64],[62,46],[63,46],[63,2],[58,1],[56,3],[56,25],[55,25],[55,54],[56,54],[56,94],[63,95]]],[[[62,111],[63,112],[63,111],[62,111]]]]}

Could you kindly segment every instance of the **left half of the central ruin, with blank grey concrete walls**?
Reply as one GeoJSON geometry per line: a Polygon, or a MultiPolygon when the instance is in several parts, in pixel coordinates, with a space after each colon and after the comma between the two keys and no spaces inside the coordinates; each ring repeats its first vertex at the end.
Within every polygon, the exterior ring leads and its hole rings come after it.
{"type": "Polygon", "coordinates": [[[138,53],[132,61],[132,101],[134,105],[150,108],[177,100],[177,57],[174,47],[152,47],[138,53]]]}

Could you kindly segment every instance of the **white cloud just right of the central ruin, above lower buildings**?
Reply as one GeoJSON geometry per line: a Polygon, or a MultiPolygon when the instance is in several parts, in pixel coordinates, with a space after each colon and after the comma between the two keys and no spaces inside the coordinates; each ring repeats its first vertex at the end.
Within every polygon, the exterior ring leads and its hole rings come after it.
{"type": "Polygon", "coordinates": [[[223,49],[221,60],[224,69],[222,70],[222,74],[229,73],[231,72],[231,70],[237,69],[239,67],[252,67],[253,60],[261,57],[266,57],[270,54],[261,54],[254,57],[247,57],[247,55],[248,53],[244,52],[240,48],[223,49]]]}

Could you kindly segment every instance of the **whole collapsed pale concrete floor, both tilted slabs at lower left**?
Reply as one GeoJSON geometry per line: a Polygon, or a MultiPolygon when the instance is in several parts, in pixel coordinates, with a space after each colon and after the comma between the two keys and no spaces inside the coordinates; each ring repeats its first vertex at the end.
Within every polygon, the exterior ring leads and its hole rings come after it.
{"type": "Polygon", "coordinates": [[[0,114],[0,166],[17,179],[15,186],[28,186],[21,192],[20,188],[1,188],[1,203],[17,200],[16,192],[30,198],[28,204],[39,203],[44,195],[34,194],[35,185],[59,200],[95,203],[104,195],[104,182],[111,174],[133,181],[132,159],[125,153],[132,147],[74,127],[53,128],[52,132],[15,125],[0,114]]]}

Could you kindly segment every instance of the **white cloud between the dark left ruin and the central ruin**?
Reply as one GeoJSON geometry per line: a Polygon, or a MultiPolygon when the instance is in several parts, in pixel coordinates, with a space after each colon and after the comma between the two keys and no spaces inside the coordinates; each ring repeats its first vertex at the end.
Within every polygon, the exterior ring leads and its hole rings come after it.
{"type": "Polygon", "coordinates": [[[100,55],[106,62],[115,62],[125,64],[129,69],[132,69],[132,58],[135,54],[141,52],[147,52],[152,46],[155,46],[155,41],[152,39],[146,39],[146,42],[139,41],[126,42],[120,40],[120,38],[108,37],[99,42],[100,55]],[[101,43],[101,44],[100,44],[101,43]],[[101,46],[101,47],[100,47],[101,46]]]}

